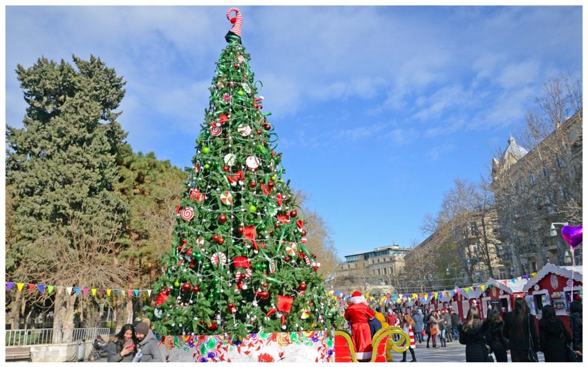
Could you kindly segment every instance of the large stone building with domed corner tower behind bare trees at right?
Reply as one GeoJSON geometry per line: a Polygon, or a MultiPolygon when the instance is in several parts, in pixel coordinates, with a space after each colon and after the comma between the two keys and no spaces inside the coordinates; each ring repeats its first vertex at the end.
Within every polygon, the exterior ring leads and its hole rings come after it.
{"type": "MultiPolygon", "coordinates": [[[[526,150],[508,139],[492,161],[492,183],[503,244],[499,255],[509,277],[538,271],[547,262],[571,265],[559,229],[582,224],[582,110],[526,150]],[[553,225],[557,235],[551,236],[553,225]]],[[[582,263],[582,245],[574,253],[582,263]]]]}

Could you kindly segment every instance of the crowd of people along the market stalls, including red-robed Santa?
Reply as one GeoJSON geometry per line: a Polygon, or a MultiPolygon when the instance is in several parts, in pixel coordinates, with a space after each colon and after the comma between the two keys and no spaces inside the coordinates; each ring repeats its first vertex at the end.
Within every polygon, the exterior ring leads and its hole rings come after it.
{"type": "MultiPolygon", "coordinates": [[[[503,314],[488,307],[488,314],[481,320],[479,307],[468,310],[465,321],[451,308],[430,310],[428,307],[405,308],[403,311],[388,309],[384,316],[376,307],[372,310],[365,297],[353,292],[344,313],[347,330],[358,361],[371,358],[371,338],[384,326],[398,326],[410,337],[408,351],[411,362],[416,361],[414,346],[425,343],[425,348],[444,348],[447,343],[459,341],[466,346],[466,362],[538,361],[542,352],[546,362],[582,360],[582,302],[574,299],[570,304],[569,328],[555,316],[551,305],[542,307],[542,317],[536,322],[524,298],[515,298],[512,312],[503,314]],[[538,325],[538,328],[537,326],[538,325]],[[572,352],[573,351],[573,352],[572,352]]],[[[398,340],[398,339],[396,339],[398,340]]],[[[403,352],[401,362],[407,361],[403,352]]]]}

